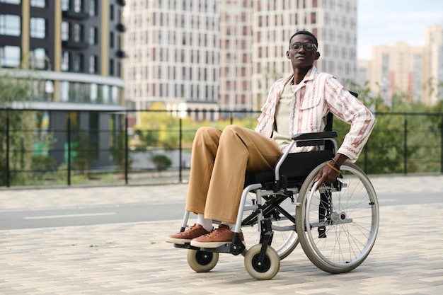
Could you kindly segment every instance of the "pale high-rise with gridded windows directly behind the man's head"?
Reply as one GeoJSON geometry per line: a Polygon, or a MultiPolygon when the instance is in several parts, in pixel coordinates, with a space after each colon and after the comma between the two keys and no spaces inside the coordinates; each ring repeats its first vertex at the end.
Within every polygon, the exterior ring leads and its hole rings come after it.
{"type": "Polygon", "coordinates": [[[263,104],[272,81],[292,71],[289,38],[309,30],[318,38],[316,67],[350,86],[357,70],[357,0],[254,1],[253,95],[263,104]]]}

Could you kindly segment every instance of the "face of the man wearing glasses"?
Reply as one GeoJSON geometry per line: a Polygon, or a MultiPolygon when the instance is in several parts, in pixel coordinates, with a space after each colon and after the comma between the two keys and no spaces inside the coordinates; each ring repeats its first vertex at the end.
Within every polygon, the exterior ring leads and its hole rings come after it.
{"type": "Polygon", "coordinates": [[[289,50],[286,52],[286,55],[291,60],[294,68],[310,68],[313,66],[313,62],[320,57],[312,37],[309,35],[295,35],[289,44],[289,50]]]}

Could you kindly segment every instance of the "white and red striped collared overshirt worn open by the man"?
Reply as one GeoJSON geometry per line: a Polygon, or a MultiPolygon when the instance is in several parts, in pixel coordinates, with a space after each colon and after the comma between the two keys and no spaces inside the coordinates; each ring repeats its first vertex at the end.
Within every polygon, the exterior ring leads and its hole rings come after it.
{"type": "MultiPolygon", "coordinates": [[[[277,105],[284,85],[292,77],[291,74],[272,84],[255,131],[272,137],[277,105]]],[[[375,125],[375,117],[368,108],[352,96],[334,76],[318,71],[315,66],[295,89],[290,110],[289,132],[292,135],[324,131],[328,112],[350,124],[350,131],[337,152],[353,162],[357,161],[375,125]]],[[[282,151],[286,148],[287,144],[280,145],[282,151]]],[[[294,146],[291,152],[312,149],[312,146],[294,146]]]]}

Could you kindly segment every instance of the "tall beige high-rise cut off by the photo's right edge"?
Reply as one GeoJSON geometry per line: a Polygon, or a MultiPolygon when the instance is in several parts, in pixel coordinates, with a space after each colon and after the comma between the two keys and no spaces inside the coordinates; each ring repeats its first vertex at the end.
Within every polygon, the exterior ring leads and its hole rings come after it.
{"type": "Polygon", "coordinates": [[[443,99],[443,25],[430,25],[425,28],[423,52],[425,71],[422,101],[433,105],[443,99]]]}

